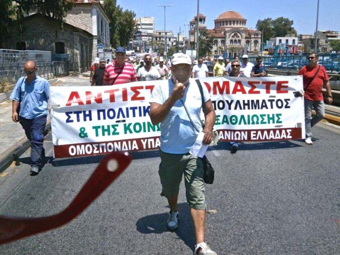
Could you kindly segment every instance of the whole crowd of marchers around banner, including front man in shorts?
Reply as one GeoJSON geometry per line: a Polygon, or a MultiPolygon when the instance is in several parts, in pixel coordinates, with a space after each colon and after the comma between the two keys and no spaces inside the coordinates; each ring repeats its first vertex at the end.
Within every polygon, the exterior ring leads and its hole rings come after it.
{"type": "MultiPolygon", "coordinates": [[[[263,77],[266,70],[261,58],[256,64],[248,62],[248,56],[233,61],[216,59],[212,75],[214,77],[263,77]]],[[[301,68],[303,76],[306,144],[313,144],[311,128],[324,117],[324,98],[322,88],[327,91],[327,103],[332,103],[332,91],[326,70],[318,64],[318,55],[310,54],[308,65],[301,68]],[[312,118],[312,108],[316,116],[312,118]]],[[[31,173],[37,175],[44,164],[44,129],[48,114],[49,83],[36,74],[37,66],[33,61],[24,65],[25,76],[21,77],[12,94],[12,120],[20,122],[27,138],[31,142],[31,173]]],[[[184,176],[186,198],[190,207],[196,245],[192,247],[194,255],[216,255],[205,239],[206,201],[204,196],[203,161],[190,153],[193,144],[201,132],[202,143],[210,144],[213,139],[213,126],[216,121],[210,94],[205,86],[199,87],[198,79],[208,77],[207,66],[203,59],[192,64],[191,58],[183,53],[175,53],[170,61],[152,59],[149,54],[144,59],[129,59],[123,47],[116,50],[115,59],[107,62],[97,59],[91,69],[91,85],[118,85],[137,80],[147,81],[169,79],[157,84],[149,99],[149,116],[153,125],[159,124],[161,130],[161,163],[158,174],[162,185],[162,196],[167,198],[170,212],[167,226],[170,230],[179,227],[180,212],[177,199],[180,183],[184,176]],[[201,98],[197,100],[197,95],[201,98]],[[197,103],[197,102],[200,103],[197,103]],[[205,108],[205,125],[201,125],[200,112],[205,108]]],[[[232,142],[232,152],[238,148],[232,142]]],[[[157,168],[157,166],[154,166],[157,168]]],[[[184,213],[184,212],[183,212],[184,213]]]]}

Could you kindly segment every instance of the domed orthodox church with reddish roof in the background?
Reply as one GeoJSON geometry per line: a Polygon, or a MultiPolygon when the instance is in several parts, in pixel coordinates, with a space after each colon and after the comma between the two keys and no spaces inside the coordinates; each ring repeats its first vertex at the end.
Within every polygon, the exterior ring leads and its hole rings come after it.
{"type": "MultiPolygon", "coordinates": [[[[206,16],[198,15],[199,30],[207,29],[206,16]]],[[[193,47],[196,36],[197,16],[190,21],[190,44],[193,47]]],[[[213,55],[222,56],[227,53],[229,58],[242,54],[255,53],[261,50],[261,31],[246,27],[247,20],[235,11],[222,13],[214,20],[215,27],[207,29],[209,36],[214,38],[213,55]]]]}

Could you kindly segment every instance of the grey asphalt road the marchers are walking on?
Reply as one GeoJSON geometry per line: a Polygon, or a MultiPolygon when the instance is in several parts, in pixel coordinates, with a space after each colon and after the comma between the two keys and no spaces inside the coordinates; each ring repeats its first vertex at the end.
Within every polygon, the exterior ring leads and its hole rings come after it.
{"type": "MultiPolygon", "coordinates": [[[[318,124],[303,141],[228,143],[207,153],[215,182],[206,188],[206,240],[225,254],[340,254],[340,129],[318,124]]],[[[29,174],[29,152],[1,175],[0,214],[48,216],[63,210],[102,157],[52,160],[29,174]]],[[[194,235],[184,185],[179,228],[166,228],[158,152],[133,161],[83,214],[61,228],[0,246],[0,254],[190,255],[194,235]]],[[[1,228],[1,226],[0,226],[1,228]]]]}

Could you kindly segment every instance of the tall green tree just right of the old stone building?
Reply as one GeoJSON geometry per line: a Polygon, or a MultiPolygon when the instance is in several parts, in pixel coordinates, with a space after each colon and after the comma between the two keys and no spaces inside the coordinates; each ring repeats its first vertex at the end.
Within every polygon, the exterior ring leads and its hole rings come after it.
{"type": "Polygon", "coordinates": [[[135,32],[134,18],[136,14],[117,5],[116,0],[104,0],[104,9],[110,18],[111,46],[127,46],[129,39],[135,32]]]}

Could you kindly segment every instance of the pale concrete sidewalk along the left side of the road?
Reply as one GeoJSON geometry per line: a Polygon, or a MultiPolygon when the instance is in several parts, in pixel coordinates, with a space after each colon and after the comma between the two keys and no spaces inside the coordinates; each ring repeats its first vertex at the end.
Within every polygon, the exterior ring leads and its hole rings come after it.
{"type": "MultiPolygon", "coordinates": [[[[89,72],[73,73],[66,77],[51,79],[49,82],[51,86],[89,86],[89,77],[89,72]]],[[[50,127],[48,115],[45,133],[48,133],[50,127]]],[[[9,99],[0,103],[0,144],[0,173],[30,147],[21,124],[12,121],[12,101],[9,99]]]]}

